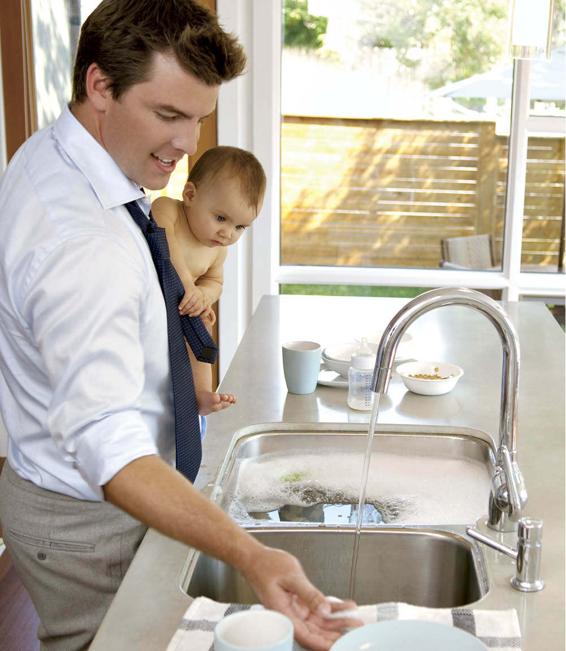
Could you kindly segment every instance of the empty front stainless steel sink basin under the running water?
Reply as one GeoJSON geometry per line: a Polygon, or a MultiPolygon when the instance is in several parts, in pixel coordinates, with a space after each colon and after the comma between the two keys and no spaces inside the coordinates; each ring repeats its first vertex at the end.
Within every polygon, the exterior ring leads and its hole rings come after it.
{"type": "MultiPolygon", "coordinates": [[[[325,594],[348,597],[354,542],[351,530],[263,528],[250,533],[266,545],[297,556],[308,577],[325,594]]],[[[257,602],[241,574],[196,551],[189,553],[181,587],[191,596],[257,602]]],[[[359,604],[403,601],[452,608],[481,599],[487,589],[481,551],[456,528],[381,528],[361,533],[354,595],[359,604]]]]}

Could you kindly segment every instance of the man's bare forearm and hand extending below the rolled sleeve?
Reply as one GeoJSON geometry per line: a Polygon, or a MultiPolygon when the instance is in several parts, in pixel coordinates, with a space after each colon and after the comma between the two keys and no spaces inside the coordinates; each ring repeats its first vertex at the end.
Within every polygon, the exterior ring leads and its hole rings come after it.
{"type": "Polygon", "coordinates": [[[138,458],[104,487],[109,502],[161,533],[215,556],[241,571],[259,600],[293,620],[295,635],[312,649],[329,649],[350,619],[326,620],[330,605],[306,578],[296,558],[246,533],[180,473],[157,456],[138,458]]]}

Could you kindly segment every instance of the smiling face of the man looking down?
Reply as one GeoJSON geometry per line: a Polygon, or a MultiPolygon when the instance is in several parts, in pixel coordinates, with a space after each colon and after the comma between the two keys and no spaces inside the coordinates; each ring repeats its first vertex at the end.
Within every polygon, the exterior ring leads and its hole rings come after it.
{"type": "Polygon", "coordinates": [[[119,100],[108,97],[98,137],[124,174],[159,190],[177,162],[194,154],[204,118],[214,111],[218,86],[183,70],[172,55],[155,53],[149,78],[119,100]]]}

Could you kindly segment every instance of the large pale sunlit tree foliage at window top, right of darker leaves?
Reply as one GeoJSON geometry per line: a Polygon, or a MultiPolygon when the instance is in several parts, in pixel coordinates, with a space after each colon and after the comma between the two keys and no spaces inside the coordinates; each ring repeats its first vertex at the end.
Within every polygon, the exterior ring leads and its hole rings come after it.
{"type": "Polygon", "coordinates": [[[431,88],[485,71],[506,47],[507,0],[365,0],[363,7],[362,42],[426,68],[431,88]]]}

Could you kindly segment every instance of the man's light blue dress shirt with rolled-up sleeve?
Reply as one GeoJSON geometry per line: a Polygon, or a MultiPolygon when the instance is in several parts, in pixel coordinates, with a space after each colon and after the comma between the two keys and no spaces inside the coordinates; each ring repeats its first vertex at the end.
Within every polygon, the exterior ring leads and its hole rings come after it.
{"type": "Polygon", "coordinates": [[[123,207],[142,197],[68,109],[0,180],[8,462],[86,500],[102,500],[101,486],[136,458],[174,459],[163,296],[123,207]]]}

